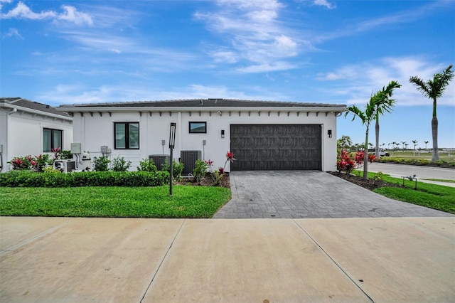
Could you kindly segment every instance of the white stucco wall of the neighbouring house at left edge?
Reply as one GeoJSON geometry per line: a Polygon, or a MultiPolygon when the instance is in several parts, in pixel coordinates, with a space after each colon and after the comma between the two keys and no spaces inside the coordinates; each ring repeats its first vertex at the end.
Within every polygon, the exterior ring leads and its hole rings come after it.
{"type": "MultiPolygon", "coordinates": [[[[3,170],[9,171],[9,164],[16,156],[38,156],[43,153],[43,128],[63,131],[63,149],[70,149],[73,142],[73,125],[68,119],[58,119],[17,111],[0,109],[0,144],[3,145],[3,170]]],[[[52,154],[52,153],[48,153],[52,154]]]]}

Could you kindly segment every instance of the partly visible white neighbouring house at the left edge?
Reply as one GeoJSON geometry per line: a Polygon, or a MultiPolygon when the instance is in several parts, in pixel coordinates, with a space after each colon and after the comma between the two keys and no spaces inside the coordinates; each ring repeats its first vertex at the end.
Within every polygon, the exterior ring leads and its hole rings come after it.
{"type": "Polygon", "coordinates": [[[51,148],[70,149],[73,118],[55,107],[14,98],[0,98],[0,165],[16,156],[38,156],[51,148]]]}

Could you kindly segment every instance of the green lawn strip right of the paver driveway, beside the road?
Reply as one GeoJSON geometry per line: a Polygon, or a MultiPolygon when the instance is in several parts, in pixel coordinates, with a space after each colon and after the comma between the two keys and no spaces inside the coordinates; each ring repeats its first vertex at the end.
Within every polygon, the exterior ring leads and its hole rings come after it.
{"type": "MultiPolygon", "coordinates": [[[[368,173],[368,178],[374,178],[375,173],[368,173]]],[[[393,183],[403,184],[402,179],[392,178],[384,175],[382,180],[393,183]]],[[[455,188],[449,186],[440,186],[428,184],[417,180],[417,191],[414,190],[415,181],[405,179],[406,188],[382,187],[375,189],[375,193],[392,198],[398,201],[404,201],[419,206],[434,208],[439,211],[455,214],[455,188]]]]}

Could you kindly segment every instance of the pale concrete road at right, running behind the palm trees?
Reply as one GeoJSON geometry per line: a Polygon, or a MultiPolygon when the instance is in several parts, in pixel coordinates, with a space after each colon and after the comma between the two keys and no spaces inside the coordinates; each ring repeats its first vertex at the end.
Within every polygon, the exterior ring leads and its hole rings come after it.
{"type": "Polygon", "coordinates": [[[455,181],[455,169],[441,169],[439,167],[373,162],[372,164],[368,164],[368,171],[374,172],[382,171],[382,173],[389,174],[390,176],[393,176],[395,178],[401,178],[402,176],[417,175],[417,181],[455,187],[455,183],[425,180],[445,179],[455,181]]]}

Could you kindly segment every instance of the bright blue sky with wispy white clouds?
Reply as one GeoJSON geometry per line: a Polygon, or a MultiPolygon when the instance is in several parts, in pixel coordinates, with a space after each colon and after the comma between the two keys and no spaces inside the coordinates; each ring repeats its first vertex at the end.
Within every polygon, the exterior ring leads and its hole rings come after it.
{"type": "MultiPolygon", "coordinates": [[[[397,80],[380,143],[431,147],[432,102],[408,80],[455,63],[454,0],[0,5],[0,96],[53,106],[223,97],[363,107],[397,80]]],[[[439,147],[455,147],[455,80],[438,119],[439,147]]],[[[343,134],[361,143],[365,127],[338,117],[343,134]]]]}

